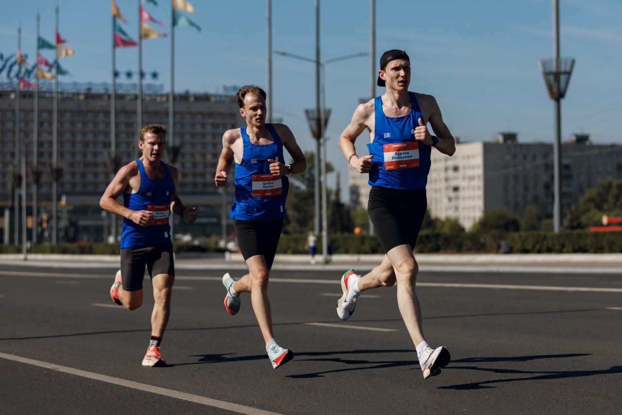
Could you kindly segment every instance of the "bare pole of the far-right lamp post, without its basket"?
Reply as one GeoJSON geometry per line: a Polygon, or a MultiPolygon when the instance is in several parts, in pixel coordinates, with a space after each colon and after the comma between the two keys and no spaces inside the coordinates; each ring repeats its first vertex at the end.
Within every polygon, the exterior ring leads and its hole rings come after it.
{"type": "Polygon", "coordinates": [[[553,0],[553,60],[555,64],[555,142],[553,145],[554,169],[554,206],[553,231],[562,229],[562,97],[560,96],[560,67],[559,67],[559,2],[553,0]]]}

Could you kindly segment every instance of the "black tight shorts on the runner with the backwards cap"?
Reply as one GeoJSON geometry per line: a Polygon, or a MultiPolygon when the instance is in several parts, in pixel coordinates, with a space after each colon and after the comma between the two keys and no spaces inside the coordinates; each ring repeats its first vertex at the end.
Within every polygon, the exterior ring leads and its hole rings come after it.
{"type": "Polygon", "coordinates": [[[424,221],[425,189],[404,190],[373,186],[367,210],[384,253],[404,244],[414,249],[424,221]]]}

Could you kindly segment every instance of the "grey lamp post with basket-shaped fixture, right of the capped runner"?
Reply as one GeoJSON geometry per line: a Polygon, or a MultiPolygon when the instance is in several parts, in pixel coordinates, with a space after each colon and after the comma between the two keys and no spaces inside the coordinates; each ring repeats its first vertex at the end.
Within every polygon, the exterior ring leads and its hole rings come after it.
{"type": "Polygon", "coordinates": [[[553,0],[553,58],[539,60],[549,97],[555,100],[555,141],[553,144],[554,206],[553,230],[559,232],[562,224],[562,98],[566,94],[574,59],[559,57],[559,3],[553,0]]]}

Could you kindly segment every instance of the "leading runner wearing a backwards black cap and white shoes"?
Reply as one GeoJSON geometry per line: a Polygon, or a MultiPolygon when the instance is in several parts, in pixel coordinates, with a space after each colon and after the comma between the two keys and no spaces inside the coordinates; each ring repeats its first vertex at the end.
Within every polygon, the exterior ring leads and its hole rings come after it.
{"type": "Polygon", "coordinates": [[[415,282],[419,270],[412,250],[427,201],[425,185],[432,147],[448,156],[455,140],[443,122],[432,95],[409,92],[411,60],[403,50],[388,50],[380,58],[378,86],[386,92],[356,108],[350,125],[339,138],[348,163],[358,173],[369,174],[368,211],[386,255],[369,274],[349,270],[341,277],[342,297],[337,315],[350,318],[364,290],[397,282],[397,307],[417,350],[424,379],[440,373],[450,361],[447,348],[431,348],[424,339],[415,282]],[[430,123],[437,136],[430,135],[430,123]],[[369,155],[358,156],[355,140],[369,131],[369,155]]]}

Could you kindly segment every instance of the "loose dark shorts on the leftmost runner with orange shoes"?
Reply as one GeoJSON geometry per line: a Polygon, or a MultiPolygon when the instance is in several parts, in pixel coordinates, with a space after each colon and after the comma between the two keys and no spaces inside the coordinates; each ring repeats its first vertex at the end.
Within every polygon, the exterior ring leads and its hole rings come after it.
{"type": "Polygon", "coordinates": [[[142,290],[145,266],[151,278],[159,274],[175,277],[173,244],[169,242],[168,244],[121,249],[121,278],[124,290],[142,290]]]}

